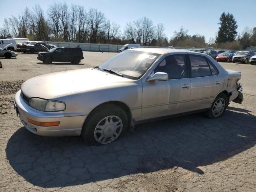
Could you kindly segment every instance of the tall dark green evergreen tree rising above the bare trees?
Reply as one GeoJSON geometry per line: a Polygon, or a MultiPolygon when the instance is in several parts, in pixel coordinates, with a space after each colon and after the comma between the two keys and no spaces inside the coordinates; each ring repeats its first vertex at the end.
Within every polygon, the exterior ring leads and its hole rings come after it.
{"type": "Polygon", "coordinates": [[[218,30],[218,36],[216,38],[216,43],[232,42],[237,36],[237,27],[236,19],[233,14],[225,14],[223,12],[220,16],[220,24],[218,30]]]}

